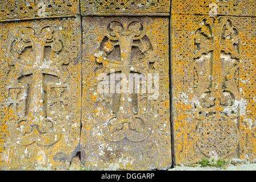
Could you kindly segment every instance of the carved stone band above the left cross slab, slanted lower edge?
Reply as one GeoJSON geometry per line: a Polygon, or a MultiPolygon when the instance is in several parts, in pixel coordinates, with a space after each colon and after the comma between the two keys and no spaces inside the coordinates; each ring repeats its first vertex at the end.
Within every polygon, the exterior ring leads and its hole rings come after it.
{"type": "Polygon", "coordinates": [[[78,0],[0,0],[0,22],[75,16],[78,12],[78,0]]]}

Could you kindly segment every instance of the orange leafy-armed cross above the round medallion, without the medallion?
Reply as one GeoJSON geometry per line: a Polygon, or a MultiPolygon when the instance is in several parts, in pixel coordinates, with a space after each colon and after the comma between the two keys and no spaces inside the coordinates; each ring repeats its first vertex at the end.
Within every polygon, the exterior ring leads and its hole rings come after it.
{"type": "Polygon", "coordinates": [[[199,36],[195,38],[195,44],[201,44],[201,49],[195,50],[194,57],[201,57],[203,53],[213,52],[213,85],[211,86],[211,91],[215,97],[221,96],[220,92],[222,92],[223,71],[221,70],[221,53],[230,53],[234,58],[239,57],[237,51],[239,39],[238,36],[235,35],[235,31],[237,30],[232,27],[230,21],[225,21],[223,18],[210,18],[206,20],[205,26],[199,30],[199,32],[207,38],[206,42],[200,41],[199,36]],[[211,32],[208,26],[211,28],[211,32]]]}

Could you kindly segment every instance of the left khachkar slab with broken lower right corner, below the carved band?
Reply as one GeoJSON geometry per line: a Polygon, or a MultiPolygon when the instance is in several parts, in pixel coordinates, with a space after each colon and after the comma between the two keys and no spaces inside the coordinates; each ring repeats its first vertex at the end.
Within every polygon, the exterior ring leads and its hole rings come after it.
{"type": "Polygon", "coordinates": [[[80,20],[0,24],[1,168],[65,169],[79,150],[80,20]]]}

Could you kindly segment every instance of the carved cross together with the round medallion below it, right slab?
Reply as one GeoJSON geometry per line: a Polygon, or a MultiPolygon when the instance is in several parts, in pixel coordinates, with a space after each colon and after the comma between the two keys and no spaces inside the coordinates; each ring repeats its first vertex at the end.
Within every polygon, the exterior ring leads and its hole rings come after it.
{"type": "Polygon", "coordinates": [[[225,157],[238,144],[234,122],[239,116],[238,105],[234,104],[239,99],[235,84],[238,44],[237,28],[223,17],[202,20],[195,32],[195,82],[199,82],[195,90],[200,100],[196,118],[201,121],[198,146],[209,157],[225,157]]]}

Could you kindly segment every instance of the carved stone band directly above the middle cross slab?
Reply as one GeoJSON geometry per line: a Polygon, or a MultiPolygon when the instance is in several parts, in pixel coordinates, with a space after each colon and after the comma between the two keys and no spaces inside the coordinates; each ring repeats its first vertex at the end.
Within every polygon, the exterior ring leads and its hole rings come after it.
{"type": "Polygon", "coordinates": [[[170,0],[80,0],[82,15],[169,13],[170,0]]]}

